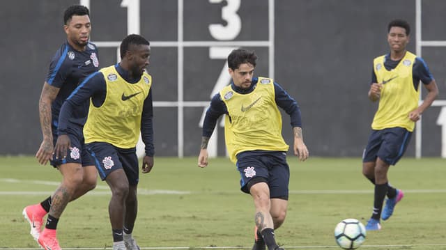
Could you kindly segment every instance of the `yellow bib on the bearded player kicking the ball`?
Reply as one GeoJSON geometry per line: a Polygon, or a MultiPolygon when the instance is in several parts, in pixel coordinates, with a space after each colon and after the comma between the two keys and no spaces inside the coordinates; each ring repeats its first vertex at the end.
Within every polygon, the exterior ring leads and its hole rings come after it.
{"type": "Polygon", "coordinates": [[[288,151],[272,79],[259,77],[248,94],[236,93],[229,85],[220,96],[229,113],[224,118],[224,139],[232,162],[237,162],[238,153],[248,150],[288,151]]]}

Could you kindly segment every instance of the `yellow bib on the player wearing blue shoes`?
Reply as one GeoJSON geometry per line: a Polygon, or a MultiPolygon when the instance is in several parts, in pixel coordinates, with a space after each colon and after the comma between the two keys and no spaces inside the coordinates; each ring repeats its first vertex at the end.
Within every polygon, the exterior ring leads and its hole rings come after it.
{"type": "Polygon", "coordinates": [[[374,72],[378,83],[383,83],[378,110],[371,128],[383,130],[389,127],[404,127],[412,132],[415,122],[409,119],[410,111],[417,109],[420,100],[419,89],[413,86],[412,69],[415,54],[406,52],[393,70],[384,67],[385,56],[374,59],[374,72]]]}

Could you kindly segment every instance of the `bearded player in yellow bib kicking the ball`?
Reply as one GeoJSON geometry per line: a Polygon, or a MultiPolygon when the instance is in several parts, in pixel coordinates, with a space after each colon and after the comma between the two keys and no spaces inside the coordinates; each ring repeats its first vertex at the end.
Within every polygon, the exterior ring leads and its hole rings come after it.
{"type": "Polygon", "coordinates": [[[235,49],[228,56],[232,83],[214,95],[203,122],[198,166],[208,166],[208,141],[217,119],[225,114],[226,149],[240,171],[242,192],[251,194],[256,208],[252,249],[282,249],[275,241],[275,229],[284,223],[289,196],[289,146],[282,137],[282,116],[289,114],[294,134],[294,154],[301,161],[309,153],[302,138],[297,102],[266,77],[254,77],[257,56],[235,49]],[[265,246],[266,245],[266,246],[265,246]]]}

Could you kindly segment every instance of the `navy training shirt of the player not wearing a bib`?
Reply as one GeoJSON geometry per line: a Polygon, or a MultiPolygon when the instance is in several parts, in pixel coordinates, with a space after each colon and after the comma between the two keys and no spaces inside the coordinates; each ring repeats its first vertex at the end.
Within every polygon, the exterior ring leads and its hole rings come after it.
{"type": "MultiPolygon", "coordinates": [[[[67,42],[53,56],[45,81],[59,93],[52,102],[52,125],[58,127],[59,112],[63,102],[77,86],[91,73],[99,70],[98,49],[89,42],[83,52],[79,52],[67,42]]],[[[79,104],[70,118],[70,123],[83,126],[89,107],[88,100],[79,104]]]]}

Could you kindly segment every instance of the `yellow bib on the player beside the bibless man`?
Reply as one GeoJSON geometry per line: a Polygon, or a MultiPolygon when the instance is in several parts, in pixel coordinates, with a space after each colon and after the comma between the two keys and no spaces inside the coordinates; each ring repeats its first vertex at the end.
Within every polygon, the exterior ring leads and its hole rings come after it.
{"type": "Polygon", "coordinates": [[[105,101],[100,107],[90,102],[84,126],[85,143],[107,142],[118,148],[134,148],[141,130],[144,100],[151,89],[152,77],[146,72],[130,84],[112,65],[100,70],[107,86],[105,101]]]}

